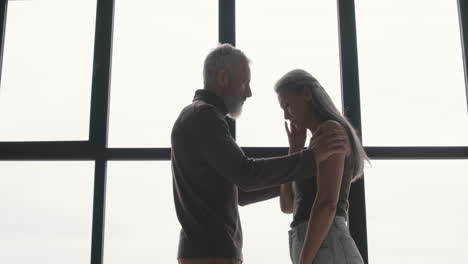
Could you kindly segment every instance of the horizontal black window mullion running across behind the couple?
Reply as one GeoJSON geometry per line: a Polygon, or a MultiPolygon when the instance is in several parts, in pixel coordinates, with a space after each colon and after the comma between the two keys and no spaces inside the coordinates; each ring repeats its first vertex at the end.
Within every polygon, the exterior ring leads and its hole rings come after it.
{"type": "MultiPolygon", "coordinates": [[[[243,147],[252,158],[277,157],[288,154],[287,147],[243,147]]],[[[468,147],[365,147],[373,160],[401,159],[468,159],[468,147]]],[[[95,152],[87,141],[0,142],[0,160],[95,160],[95,152]]],[[[105,160],[170,160],[170,148],[107,148],[105,160]]]]}

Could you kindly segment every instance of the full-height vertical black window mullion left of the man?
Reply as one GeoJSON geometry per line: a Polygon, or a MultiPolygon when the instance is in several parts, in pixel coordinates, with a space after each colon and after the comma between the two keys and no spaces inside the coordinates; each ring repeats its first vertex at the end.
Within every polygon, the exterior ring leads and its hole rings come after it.
{"type": "Polygon", "coordinates": [[[108,136],[114,0],[98,0],[91,91],[90,144],[96,155],[94,171],[91,264],[103,262],[106,194],[105,157],[108,136]]]}

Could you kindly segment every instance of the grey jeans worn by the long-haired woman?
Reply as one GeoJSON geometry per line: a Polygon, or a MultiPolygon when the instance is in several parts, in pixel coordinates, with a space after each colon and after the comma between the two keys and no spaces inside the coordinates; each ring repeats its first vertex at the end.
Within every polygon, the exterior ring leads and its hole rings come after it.
{"type": "MultiPolygon", "coordinates": [[[[307,231],[308,222],[289,230],[289,253],[293,264],[298,264],[307,231]]],[[[336,216],[325,240],[315,257],[314,264],[363,264],[361,254],[354,243],[343,216],[336,216]]]]}

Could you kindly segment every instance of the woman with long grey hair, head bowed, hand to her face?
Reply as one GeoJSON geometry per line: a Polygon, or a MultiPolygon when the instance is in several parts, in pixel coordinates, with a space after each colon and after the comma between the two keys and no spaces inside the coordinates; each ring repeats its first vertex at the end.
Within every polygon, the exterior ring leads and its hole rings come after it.
{"type": "Polygon", "coordinates": [[[336,109],[320,83],[304,70],[286,73],[275,85],[285,122],[290,153],[300,151],[306,131],[311,145],[321,131],[345,129],[350,152],[334,154],[317,164],[317,177],[283,184],[281,210],[293,213],[289,231],[294,264],[364,263],[347,226],[351,182],[363,172],[368,157],[356,131],[336,109]]]}

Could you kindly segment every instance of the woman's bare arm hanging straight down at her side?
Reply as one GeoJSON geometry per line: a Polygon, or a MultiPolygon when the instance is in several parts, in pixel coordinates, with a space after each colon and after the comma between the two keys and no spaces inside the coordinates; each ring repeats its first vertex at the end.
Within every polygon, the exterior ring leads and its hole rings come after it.
{"type": "Polygon", "coordinates": [[[334,154],[318,165],[317,195],[310,212],[301,264],[311,264],[335,218],[345,154],[334,154]]]}

